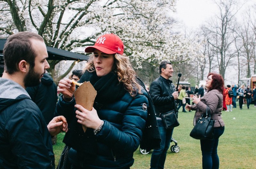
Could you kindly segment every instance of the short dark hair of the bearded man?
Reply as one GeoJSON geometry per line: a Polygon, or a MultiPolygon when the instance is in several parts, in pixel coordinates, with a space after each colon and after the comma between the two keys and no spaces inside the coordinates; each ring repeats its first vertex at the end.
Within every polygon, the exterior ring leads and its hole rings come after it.
{"type": "Polygon", "coordinates": [[[35,51],[32,48],[31,39],[44,42],[44,39],[33,32],[18,32],[11,35],[4,44],[4,71],[13,74],[18,71],[18,64],[26,60],[30,68],[35,67],[35,51]]]}

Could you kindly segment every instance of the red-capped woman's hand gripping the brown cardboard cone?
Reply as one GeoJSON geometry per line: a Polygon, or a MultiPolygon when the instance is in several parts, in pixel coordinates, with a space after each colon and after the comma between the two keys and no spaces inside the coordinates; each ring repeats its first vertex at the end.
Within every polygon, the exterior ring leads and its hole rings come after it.
{"type": "Polygon", "coordinates": [[[78,118],[78,123],[92,129],[97,129],[100,126],[102,120],[100,120],[94,108],[92,108],[92,111],[89,111],[79,104],[76,104],[75,108],[77,108],[76,118],[78,118]]]}

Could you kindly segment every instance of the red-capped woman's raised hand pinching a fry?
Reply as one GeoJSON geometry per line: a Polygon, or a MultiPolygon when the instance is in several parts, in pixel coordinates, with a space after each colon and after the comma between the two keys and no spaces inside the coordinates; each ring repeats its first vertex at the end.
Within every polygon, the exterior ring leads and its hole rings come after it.
{"type": "Polygon", "coordinates": [[[57,92],[60,92],[66,98],[71,98],[76,90],[76,85],[67,78],[60,80],[58,86],[59,89],[57,90],[57,92]]]}

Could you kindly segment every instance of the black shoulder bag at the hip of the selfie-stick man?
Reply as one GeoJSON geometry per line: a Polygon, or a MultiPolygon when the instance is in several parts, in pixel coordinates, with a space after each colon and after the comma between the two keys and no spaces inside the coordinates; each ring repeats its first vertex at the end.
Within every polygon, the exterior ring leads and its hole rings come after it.
{"type": "Polygon", "coordinates": [[[175,109],[166,113],[160,113],[160,116],[164,122],[164,127],[166,129],[171,129],[180,125],[176,116],[175,109]]]}

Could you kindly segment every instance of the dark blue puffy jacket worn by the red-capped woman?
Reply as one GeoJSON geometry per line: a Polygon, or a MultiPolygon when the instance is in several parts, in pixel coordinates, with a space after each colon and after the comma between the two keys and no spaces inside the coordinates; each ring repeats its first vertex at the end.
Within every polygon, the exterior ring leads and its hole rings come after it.
{"type": "Polygon", "coordinates": [[[68,120],[68,132],[63,142],[77,150],[83,157],[84,168],[128,168],[132,166],[133,152],[137,150],[145,128],[148,106],[147,93],[132,97],[128,92],[115,102],[98,106],[94,104],[98,116],[104,121],[102,129],[93,134],[93,129],[83,132],[77,123],[74,112],[75,101],[65,102],[60,97],[56,106],[56,115],[68,120]],[[146,107],[147,107],[146,106],[146,107]]]}

